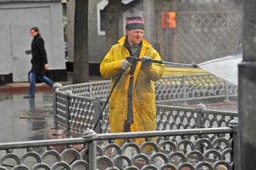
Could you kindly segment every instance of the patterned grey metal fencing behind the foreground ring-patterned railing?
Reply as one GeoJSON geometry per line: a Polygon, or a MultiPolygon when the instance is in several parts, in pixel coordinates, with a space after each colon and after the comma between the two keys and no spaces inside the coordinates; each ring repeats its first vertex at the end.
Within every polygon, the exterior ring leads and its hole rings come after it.
{"type": "MultiPolygon", "coordinates": [[[[99,119],[97,133],[109,133],[108,105],[102,111],[110,88],[110,82],[83,83],[58,87],[54,93],[54,124],[66,130],[67,135],[80,134],[87,128],[93,129],[99,119]],[[95,97],[96,96],[96,97],[95,97]]],[[[201,74],[193,76],[164,77],[155,83],[158,101],[183,101],[209,99],[237,95],[237,87],[213,76],[201,74]],[[185,94],[185,95],[184,95],[185,94]]],[[[237,112],[210,111],[204,107],[184,108],[157,105],[157,130],[194,129],[201,127],[226,127],[229,120],[237,118],[237,112]]]]}

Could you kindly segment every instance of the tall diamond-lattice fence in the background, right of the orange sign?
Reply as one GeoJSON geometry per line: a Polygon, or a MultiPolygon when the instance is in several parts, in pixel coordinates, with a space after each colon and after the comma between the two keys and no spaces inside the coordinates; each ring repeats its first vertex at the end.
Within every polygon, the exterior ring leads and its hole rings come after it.
{"type": "Polygon", "coordinates": [[[160,0],[157,4],[158,16],[176,13],[175,28],[158,25],[164,61],[200,63],[234,54],[242,43],[242,0],[160,0]]]}

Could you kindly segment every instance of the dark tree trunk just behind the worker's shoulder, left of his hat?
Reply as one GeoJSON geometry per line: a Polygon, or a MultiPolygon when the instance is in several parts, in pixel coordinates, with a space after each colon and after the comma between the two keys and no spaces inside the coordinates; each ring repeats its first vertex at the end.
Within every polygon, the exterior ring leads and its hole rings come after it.
{"type": "Polygon", "coordinates": [[[103,11],[107,48],[116,44],[119,39],[121,2],[120,0],[109,0],[103,11]]]}

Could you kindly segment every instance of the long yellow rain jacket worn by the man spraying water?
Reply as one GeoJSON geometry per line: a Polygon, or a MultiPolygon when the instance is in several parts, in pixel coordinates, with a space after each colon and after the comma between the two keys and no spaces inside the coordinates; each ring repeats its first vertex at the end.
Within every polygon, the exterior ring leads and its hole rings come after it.
{"type": "MultiPolygon", "coordinates": [[[[111,78],[111,89],[119,76],[120,64],[126,56],[130,56],[126,47],[123,46],[125,36],[120,38],[118,44],[111,47],[101,62],[101,75],[107,79],[111,78]]],[[[152,59],[161,60],[159,53],[151,47],[145,39],[139,58],[149,56],[152,59]]],[[[130,69],[130,68],[129,68],[130,69]]],[[[129,72],[129,69],[126,72],[129,72]]],[[[154,64],[143,70],[141,62],[137,62],[133,80],[133,121],[131,132],[142,132],[156,130],[156,108],[155,108],[155,83],[154,81],[163,77],[164,65],[154,64]]],[[[130,75],[123,74],[110,97],[109,115],[110,132],[123,132],[124,123],[128,112],[128,86],[130,75]]],[[[134,139],[137,144],[142,144],[143,139],[134,139]]],[[[120,146],[123,140],[115,141],[120,146]]]]}

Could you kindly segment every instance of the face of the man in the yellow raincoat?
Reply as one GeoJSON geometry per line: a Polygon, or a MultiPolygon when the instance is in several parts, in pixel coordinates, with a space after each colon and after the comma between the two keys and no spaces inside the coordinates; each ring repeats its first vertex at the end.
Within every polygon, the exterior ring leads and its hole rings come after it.
{"type": "Polygon", "coordinates": [[[143,38],[144,30],[143,29],[125,29],[126,35],[128,36],[128,42],[130,46],[134,46],[140,43],[143,38]]]}

